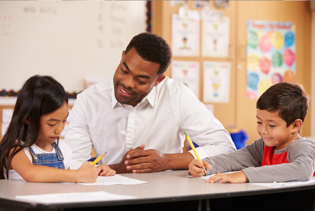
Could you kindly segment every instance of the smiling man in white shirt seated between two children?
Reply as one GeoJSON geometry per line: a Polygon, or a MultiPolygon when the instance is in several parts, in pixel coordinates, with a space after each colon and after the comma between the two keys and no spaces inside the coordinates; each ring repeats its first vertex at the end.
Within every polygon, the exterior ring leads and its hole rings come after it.
{"type": "Polygon", "coordinates": [[[120,173],[188,169],[182,153],[187,131],[201,159],[235,151],[230,134],[184,84],[163,73],[171,62],[163,38],[141,33],[130,41],[113,79],[77,96],[65,142],[71,169],[107,152],[99,164],[120,173]],[[138,146],[138,147],[137,147],[138,146]],[[146,148],[146,149],[144,149],[146,148]]]}

